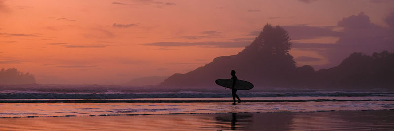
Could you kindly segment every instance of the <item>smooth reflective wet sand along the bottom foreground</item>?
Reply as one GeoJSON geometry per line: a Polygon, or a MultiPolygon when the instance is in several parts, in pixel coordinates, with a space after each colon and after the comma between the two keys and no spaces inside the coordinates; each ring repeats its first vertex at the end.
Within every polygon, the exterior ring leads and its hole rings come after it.
{"type": "Polygon", "coordinates": [[[14,130],[394,130],[394,110],[0,118],[14,130]]]}

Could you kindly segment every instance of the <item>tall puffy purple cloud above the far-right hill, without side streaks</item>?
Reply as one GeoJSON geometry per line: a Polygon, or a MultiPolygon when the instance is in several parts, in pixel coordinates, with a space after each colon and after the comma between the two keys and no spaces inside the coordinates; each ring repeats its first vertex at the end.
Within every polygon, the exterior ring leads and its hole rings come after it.
{"type": "MultiPolygon", "coordinates": [[[[393,19],[392,17],[393,13],[386,20],[393,19]]],[[[343,18],[337,26],[343,28],[343,35],[336,42],[337,47],[321,52],[327,53],[333,63],[339,63],[352,52],[371,54],[382,50],[394,51],[394,28],[371,23],[369,16],[363,12],[343,18]]]]}

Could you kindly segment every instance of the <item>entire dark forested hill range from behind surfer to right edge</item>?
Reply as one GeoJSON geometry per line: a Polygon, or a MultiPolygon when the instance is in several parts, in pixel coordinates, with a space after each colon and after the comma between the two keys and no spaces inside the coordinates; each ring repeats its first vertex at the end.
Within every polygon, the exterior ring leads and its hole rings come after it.
{"type": "Polygon", "coordinates": [[[235,70],[238,78],[252,82],[257,88],[377,88],[394,87],[394,54],[384,51],[367,56],[353,53],[330,69],[315,71],[311,66],[296,67],[289,54],[291,43],[287,31],[269,24],[237,55],[220,56],[203,67],[185,74],[174,74],[159,86],[212,87],[214,81],[230,78],[235,70]]]}

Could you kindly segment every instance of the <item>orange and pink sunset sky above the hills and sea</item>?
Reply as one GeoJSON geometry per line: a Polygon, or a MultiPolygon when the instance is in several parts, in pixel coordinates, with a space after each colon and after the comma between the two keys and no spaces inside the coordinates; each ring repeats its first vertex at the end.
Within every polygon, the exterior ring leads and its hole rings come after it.
{"type": "Polygon", "coordinates": [[[394,0],[0,0],[0,68],[41,84],[122,84],[235,55],[265,24],[298,66],[394,52],[394,0]]]}

